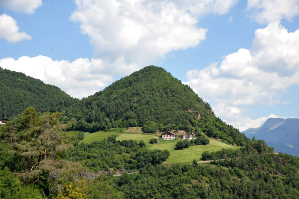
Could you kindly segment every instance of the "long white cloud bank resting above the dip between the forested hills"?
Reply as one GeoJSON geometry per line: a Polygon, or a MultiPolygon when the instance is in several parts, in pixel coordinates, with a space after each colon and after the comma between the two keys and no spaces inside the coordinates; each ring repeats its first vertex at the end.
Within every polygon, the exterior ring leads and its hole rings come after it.
{"type": "MultiPolygon", "coordinates": [[[[47,84],[56,85],[73,97],[82,98],[94,94],[112,83],[108,63],[99,59],[78,58],[73,62],[54,61],[46,56],[23,56],[0,59],[0,66],[9,70],[23,72],[26,75],[42,80],[47,84]]],[[[124,69],[122,60],[114,63],[115,70],[124,69]]],[[[134,66],[132,66],[134,68],[134,66]]],[[[133,71],[128,71],[133,72],[133,71]]]]}

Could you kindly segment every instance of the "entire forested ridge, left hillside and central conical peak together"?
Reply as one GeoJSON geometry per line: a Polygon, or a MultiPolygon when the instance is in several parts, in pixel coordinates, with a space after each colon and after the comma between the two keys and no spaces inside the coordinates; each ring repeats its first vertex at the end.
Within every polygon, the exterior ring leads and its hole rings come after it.
{"type": "Polygon", "coordinates": [[[142,126],[143,131],[184,130],[243,146],[244,135],[215,117],[210,105],[163,68],[148,66],[103,91],[74,99],[58,87],[0,68],[0,117],[13,118],[27,107],[38,113],[62,112],[88,132],[142,126]]]}

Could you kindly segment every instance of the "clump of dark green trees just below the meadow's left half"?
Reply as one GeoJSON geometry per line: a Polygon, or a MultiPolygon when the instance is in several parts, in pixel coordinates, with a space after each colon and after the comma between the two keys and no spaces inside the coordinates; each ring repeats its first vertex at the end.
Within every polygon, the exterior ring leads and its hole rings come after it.
{"type": "Polygon", "coordinates": [[[116,141],[115,136],[89,145],[78,144],[67,153],[68,160],[82,162],[94,172],[108,171],[109,168],[134,171],[146,165],[161,164],[168,156],[167,150],[149,151],[135,140],[116,141]]]}

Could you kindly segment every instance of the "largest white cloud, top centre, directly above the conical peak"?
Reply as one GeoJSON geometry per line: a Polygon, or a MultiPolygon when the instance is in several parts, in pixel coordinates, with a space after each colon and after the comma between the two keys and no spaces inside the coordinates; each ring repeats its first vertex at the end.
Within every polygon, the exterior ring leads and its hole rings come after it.
{"type": "MultiPolygon", "coordinates": [[[[76,0],[70,19],[95,46],[95,57],[144,67],[172,50],[197,46],[198,17],[224,14],[236,0],[76,0]]],[[[113,69],[112,69],[113,70],[113,69]]]]}

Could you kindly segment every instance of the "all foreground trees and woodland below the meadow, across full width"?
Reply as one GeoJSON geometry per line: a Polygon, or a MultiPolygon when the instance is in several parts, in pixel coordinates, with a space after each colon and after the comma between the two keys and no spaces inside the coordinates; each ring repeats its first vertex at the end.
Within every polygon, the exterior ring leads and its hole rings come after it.
{"type": "Polygon", "coordinates": [[[79,141],[82,132],[68,135],[64,132],[68,125],[62,121],[60,113],[38,116],[30,107],[0,126],[1,198],[297,199],[299,196],[299,158],[274,154],[273,148],[262,140],[247,139],[245,146],[237,150],[205,152],[202,159],[216,160],[212,165],[200,165],[194,160],[192,164],[166,166],[161,165],[169,156],[166,150],[148,150],[145,142],[117,141],[114,136],[83,144],[79,141]],[[117,171],[125,173],[112,176],[117,171]],[[80,180],[82,177],[87,179],[80,180]]]}

